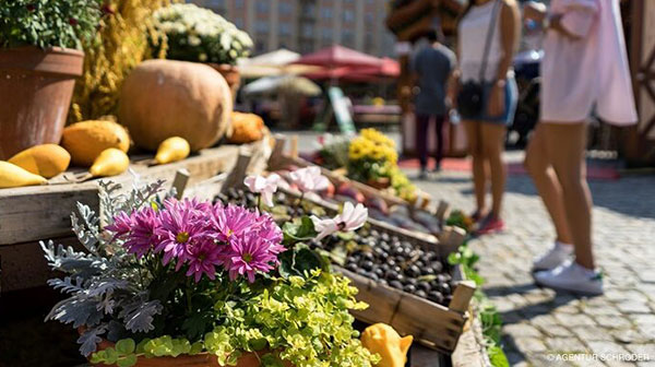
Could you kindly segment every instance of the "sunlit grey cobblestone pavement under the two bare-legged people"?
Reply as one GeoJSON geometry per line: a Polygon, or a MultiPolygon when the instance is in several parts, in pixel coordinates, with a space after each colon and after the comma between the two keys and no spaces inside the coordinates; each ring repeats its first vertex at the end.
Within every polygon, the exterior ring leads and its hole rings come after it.
{"type": "MultiPolygon", "coordinates": [[[[510,158],[519,161],[521,154],[510,158]]],[[[474,208],[469,176],[445,171],[417,185],[468,212],[474,208]]],[[[602,297],[576,298],[533,284],[532,259],[555,237],[527,176],[509,177],[508,229],[471,242],[481,256],[485,292],[503,317],[504,350],[513,366],[655,366],[655,176],[597,180],[591,187],[595,250],[605,274],[602,297]],[[633,353],[650,362],[551,360],[568,353],[633,353]]]]}

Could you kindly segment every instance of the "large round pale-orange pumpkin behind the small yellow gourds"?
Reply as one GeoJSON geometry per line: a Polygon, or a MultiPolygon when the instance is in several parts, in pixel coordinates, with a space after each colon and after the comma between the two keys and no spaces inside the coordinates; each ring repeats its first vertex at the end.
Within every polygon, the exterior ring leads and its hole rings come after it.
{"type": "Polygon", "coordinates": [[[181,137],[199,151],[225,134],[231,110],[229,86],[211,67],[148,60],[123,83],[119,121],[143,149],[155,151],[164,140],[181,137]]]}

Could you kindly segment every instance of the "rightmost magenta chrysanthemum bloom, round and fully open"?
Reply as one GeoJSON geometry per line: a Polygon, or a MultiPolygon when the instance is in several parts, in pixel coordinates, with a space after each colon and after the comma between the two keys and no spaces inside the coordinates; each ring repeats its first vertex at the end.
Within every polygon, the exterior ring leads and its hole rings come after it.
{"type": "Polygon", "coordinates": [[[224,253],[223,265],[229,272],[229,279],[247,276],[250,283],[254,282],[258,271],[267,273],[277,262],[275,253],[271,252],[271,244],[259,236],[259,233],[249,232],[235,236],[224,253]]]}

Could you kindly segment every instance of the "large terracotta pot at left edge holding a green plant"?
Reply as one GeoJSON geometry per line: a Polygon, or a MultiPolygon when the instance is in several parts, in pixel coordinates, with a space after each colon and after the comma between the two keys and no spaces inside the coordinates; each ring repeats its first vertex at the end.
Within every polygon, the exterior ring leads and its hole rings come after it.
{"type": "Polygon", "coordinates": [[[59,143],[83,62],[68,48],[0,49],[0,159],[59,143]]]}

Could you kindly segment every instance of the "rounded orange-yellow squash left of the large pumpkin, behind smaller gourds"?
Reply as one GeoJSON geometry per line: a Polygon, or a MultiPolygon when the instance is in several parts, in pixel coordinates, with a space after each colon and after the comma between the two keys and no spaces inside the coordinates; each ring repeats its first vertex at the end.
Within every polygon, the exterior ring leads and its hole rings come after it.
{"type": "Polygon", "coordinates": [[[73,164],[88,167],[106,149],[116,147],[127,153],[130,135],[114,121],[82,121],[63,129],[61,145],[71,154],[73,164]]]}

